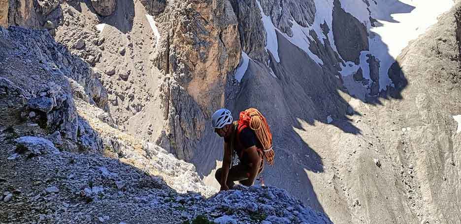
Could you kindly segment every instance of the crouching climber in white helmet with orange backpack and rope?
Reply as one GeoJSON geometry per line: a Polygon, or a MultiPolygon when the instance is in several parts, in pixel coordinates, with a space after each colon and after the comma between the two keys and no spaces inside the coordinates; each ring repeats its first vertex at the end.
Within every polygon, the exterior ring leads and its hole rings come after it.
{"type": "Polygon", "coordinates": [[[215,178],[220,183],[220,191],[232,189],[234,181],[251,186],[256,176],[263,171],[264,158],[273,164],[272,135],[264,116],[250,108],[240,113],[238,121],[232,122],[232,114],[227,109],[213,113],[211,123],[215,132],[224,138],[223,167],[216,170],[215,178]],[[238,156],[240,163],[233,166],[238,156]]]}

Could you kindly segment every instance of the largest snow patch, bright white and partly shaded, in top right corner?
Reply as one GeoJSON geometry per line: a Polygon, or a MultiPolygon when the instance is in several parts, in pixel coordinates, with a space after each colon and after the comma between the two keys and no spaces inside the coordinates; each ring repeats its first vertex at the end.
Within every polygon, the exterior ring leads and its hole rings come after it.
{"type": "MultiPolygon", "coordinates": [[[[363,70],[363,77],[369,80],[366,55],[371,54],[380,61],[379,90],[393,86],[388,71],[395,58],[411,40],[435,24],[437,17],[448,11],[453,4],[453,0],[387,0],[379,1],[378,4],[370,2],[368,7],[363,1],[341,0],[344,11],[351,13],[369,30],[369,51],[362,52],[359,65],[363,70]],[[377,27],[371,26],[370,16],[378,21],[375,23],[377,27]]],[[[341,75],[344,77],[354,74],[358,67],[348,68],[346,65],[343,69],[341,75]]]]}

